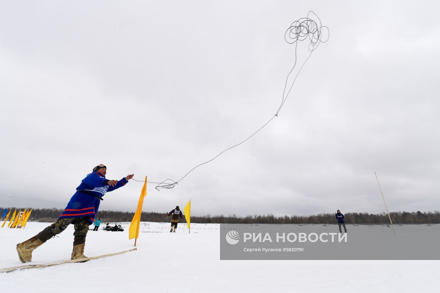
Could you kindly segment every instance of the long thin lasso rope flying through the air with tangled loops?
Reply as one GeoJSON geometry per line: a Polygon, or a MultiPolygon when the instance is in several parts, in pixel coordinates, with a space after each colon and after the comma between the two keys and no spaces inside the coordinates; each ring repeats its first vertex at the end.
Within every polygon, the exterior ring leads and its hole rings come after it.
{"type": "MultiPolygon", "coordinates": [[[[287,100],[287,97],[290,94],[290,91],[293,88],[293,84],[295,83],[295,81],[297,80],[298,74],[301,72],[304,64],[307,62],[307,60],[310,58],[310,56],[312,55],[312,52],[318,48],[318,45],[320,43],[325,43],[330,37],[330,31],[326,26],[321,26],[321,20],[319,19],[318,15],[316,15],[313,11],[309,11],[307,14],[307,18],[300,18],[299,20],[293,22],[290,27],[286,30],[286,33],[284,34],[284,39],[286,40],[287,43],[289,44],[295,44],[295,63],[293,64],[292,69],[290,70],[290,72],[287,74],[286,77],[286,83],[284,85],[284,91],[282,93],[282,102],[281,105],[279,106],[276,114],[271,117],[271,119],[269,119],[268,122],[266,122],[263,126],[261,126],[256,132],[254,132],[251,136],[249,136],[247,139],[243,140],[241,143],[236,144],[235,146],[229,147],[226,150],[222,151],[220,154],[216,155],[215,157],[213,157],[211,160],[206,161],[202,164],[199,164],[197,166],[195,166],[194,168],[192,168],[189,172],[187,172],[185,174],[185,176],[183,176],[182,178],[180,178],[180,180],[178,181],[174,181],[172,179],[165,179],[162,182],[149,182],[148,183],[154,183],[154,184],[158,184],[156,187],[157,190],[159,190],[159,188],[166,188],[166,189],[171,189],[173,187],[176,186],[176,184],[179,184],[179,182],[185,178],[189,173],[191,173],[195,168],[204,165],[206,163],[209,163],[210,161],[213,161],[216,157],[220,156],[221,154],[223,154],[225,151],[230,150],[234,147],[239,146],[240,144],[244,143],[246,140],[250,139],[252,136],[254,136],[257,132],[259,132],[262,128],[264,128],[264,126],[268,125],[269,122],[272,121],[273,118],[278,117],[279,112],[281,111],[282,106],[284,105],[284,103],[287,100]],[[314,15],[317,19],[318,22],[315,22],[311,17],[312,15],[314,15]],[[323,39],[323,30],[327,32],[327,37],[326,39],[323,39]],[[298,47],[298,42],[297,41],[303,41],[303,40],[310,40],[310,43],[308,44],[308,50],[310,51],[310,54],[308,55],[307,59],[305,59],[304,63],[301,65],[300,69],[298,70],[298,73],[296,74],[296,76],[294,77],[293,81],[291,83],[289,83],[289,77],[290,74],[293,72],[293,70],[295,69],[296,65],[297,65],[297,47],[298,47]],[[288,86],[290,85],[290,88],[288,88],[288,86]],[[288,89],[287,89],[288,88],[288,89]]],[[[133,179],[135,181],[138,182],[144,182],[143,180],[136,180],[133,179]]]]}

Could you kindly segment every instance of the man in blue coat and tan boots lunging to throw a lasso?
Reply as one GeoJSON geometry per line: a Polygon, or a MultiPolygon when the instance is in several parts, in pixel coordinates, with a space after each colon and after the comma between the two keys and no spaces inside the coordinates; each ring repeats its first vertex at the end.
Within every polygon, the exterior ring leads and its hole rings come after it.
{"type": "Polygon", "coordinates": [[[85,237],[88,226],[95,220],[100,201],[106,192],[110,192],[124,186],[134,174],[127,175],[121,180],[106,179],[107,167],[98,165],[93,172],[81,180],[77,192],[70,198],[66,209],[59,216],[58,220],[34,237],[17,244],[18,258],[22,263],[32,260],[32,252],[37,247],[64,231],[70,224],[74,225],[73,251],[71,260],[86,258],[84,255],[85,237]]]}

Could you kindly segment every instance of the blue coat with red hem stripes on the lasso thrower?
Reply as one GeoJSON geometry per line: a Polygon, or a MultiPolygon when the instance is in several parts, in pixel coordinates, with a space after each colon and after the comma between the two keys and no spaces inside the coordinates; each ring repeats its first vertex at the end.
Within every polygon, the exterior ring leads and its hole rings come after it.
{"type": "Polygon", "coordinates": [[[98,212],[100,200],[91,194],[102,198],[106,192],[118,189],[128,183],[125,177],[119,180],[115,187],[107,185],[107,181],[110,180],[106,179],[106,177],[99,172],[93,172],[85,176],[85,178],[81,180],[81,184],[77,187],[77,192],[70,198],[66,209],[64,209],[61,216],[59,216],[59,219],[90,216],[88,221],[92,224],[98,212]]]}

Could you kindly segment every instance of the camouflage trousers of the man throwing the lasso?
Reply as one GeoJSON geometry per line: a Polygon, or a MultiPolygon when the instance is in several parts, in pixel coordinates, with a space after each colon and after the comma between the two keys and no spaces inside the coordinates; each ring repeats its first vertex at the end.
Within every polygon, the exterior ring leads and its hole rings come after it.
{"type": "Polygon", "coordinates": [[[74,240],[73,245],[78,245],[85,243],[85,237],[88,232],[88,222],[89,216],[81,217],[81,218],[62,218],[58,219],[55,223],[50,226],[44,228],[43,231],[37,234],[37,238],[42,242],[48,241],[50,238],[54,237],[56,234],[60,234],[62,231],[66,230],[66,228],[73,224],[75,231],[73,232],[74,240]]]}

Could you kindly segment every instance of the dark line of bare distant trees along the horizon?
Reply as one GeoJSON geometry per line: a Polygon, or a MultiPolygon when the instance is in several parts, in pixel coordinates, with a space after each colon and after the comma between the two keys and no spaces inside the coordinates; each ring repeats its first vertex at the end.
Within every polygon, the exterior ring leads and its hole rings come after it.
{"type": "MultiPolygon", "coordinates": [[[[7,208],[14,211],[17,209],[24,210],[24,208],[7,208]]],[[[30,208],[26,208],[30,209],[30,208]]],[[[3,211],[4,208],[1,208],[3,211]]],[[[55,222],[62,209],[33,209],[29,221],[38,222],[55,222]]],[[[96,218],[101,218],[104,223],[118,223],[131,222],[134,212],[120,212],[120,211],[99,211],[96,218]]],[[[0,215],[1,216],[1,215],[0,215]]],[[[253,216],[237,216],[237,215],[216,215],[211,216],[191,216],[191,223],[242,223],[242,224],[332,224],[336,223],[333,213],[321,213],[310,216],[274,216],[268,215],[253,215],[253,216]]],[[[369,214],[367,212],[347,212],[344,214],[345,223],[348,224],[385,224],[389,223],[388,214],[382,212],[380,214],[369,214]]],[[[395,224],[438,224],[440,223],[440,212],[390,212],[392,223],[395,224]]],[[[160,212],[142,212],[141,221],[143,222],[170,222],[171,216],[167,217],[166,213],[160,212]]],[[[180,219],[180,223],[186,223],[185,217],[180,219]]]]}

